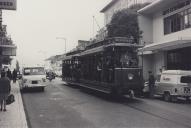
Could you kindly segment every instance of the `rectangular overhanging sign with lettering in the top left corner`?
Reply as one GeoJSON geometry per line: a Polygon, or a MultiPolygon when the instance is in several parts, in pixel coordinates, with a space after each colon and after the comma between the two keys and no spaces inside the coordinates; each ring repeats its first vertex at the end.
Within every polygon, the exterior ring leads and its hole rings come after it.
{"type": "Polygon", "coordinates": [[[16,10],[16,0],[0,0],[0,9],[16,10]]]}

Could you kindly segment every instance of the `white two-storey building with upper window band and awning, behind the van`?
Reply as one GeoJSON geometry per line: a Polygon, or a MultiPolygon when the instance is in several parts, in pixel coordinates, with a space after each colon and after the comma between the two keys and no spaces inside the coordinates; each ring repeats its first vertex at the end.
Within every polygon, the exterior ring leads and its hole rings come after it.
{"type": "Polygon", "coordinates": [[[138,13],[145,79],[149,70],[191,70],[191,0],[157,0],[138,13]]]}

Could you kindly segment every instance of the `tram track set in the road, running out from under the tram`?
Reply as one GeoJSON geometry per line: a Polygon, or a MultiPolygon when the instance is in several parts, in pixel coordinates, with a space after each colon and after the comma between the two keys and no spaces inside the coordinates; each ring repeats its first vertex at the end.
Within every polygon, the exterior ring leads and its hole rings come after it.
{"type": "Polygon", "coordinates": [[[152,105],[153,101],[151,103],[149,101],[149,104],[147,104],[147,102],[144,102],[143,100],[139,98],[130,100],[129,98],[124,96],[124,97],[120,97],[119,99],[113,100],[113,99],[110,99],[107,94],[101,93],[101,92],[98,93],[98,92],[92,91],[91,89],[87,89],[87,90],[82,89],[81,91],[88,95],[93,95],[98,98],[101,98],[105,101],[122,104],[136,111],[176,124],[178,128],[179,127],[191,128],[191,123],[190,123],[191,116],[188,117],[186,115],[176,113],[175,111],[170,111],[169,108],[165,109],[165,107],[169,107],[166,105],[166,103],[165,105],[163,105],[163,107],[160,107],[160,106],[157,106],[158,103],[156,103],[155,105],[152,105]]]}

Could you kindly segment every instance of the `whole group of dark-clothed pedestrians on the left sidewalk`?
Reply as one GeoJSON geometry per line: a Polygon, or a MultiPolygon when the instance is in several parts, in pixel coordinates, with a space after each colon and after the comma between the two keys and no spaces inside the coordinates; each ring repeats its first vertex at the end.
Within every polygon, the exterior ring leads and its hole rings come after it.
{"type": "Polygon", "coordinates": [[[1,108],[0,111],[6,111],[6,100],[11,91],[11,80],[13,83],[16,83],[17,80],[17,71],[16,69],[13,72],[8,69],[1,70],[1,78],[0,78],[0,104],[1,108]]]}

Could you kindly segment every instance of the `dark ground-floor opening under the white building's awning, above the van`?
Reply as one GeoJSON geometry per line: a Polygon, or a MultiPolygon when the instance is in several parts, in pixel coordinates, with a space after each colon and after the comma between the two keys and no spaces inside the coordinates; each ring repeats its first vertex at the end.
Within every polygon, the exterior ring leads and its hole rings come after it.
{"type": "Polygon", "coordinates": [[[168,70],[191,70],[191,47],[167,52],[168,70]]]}

